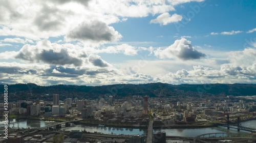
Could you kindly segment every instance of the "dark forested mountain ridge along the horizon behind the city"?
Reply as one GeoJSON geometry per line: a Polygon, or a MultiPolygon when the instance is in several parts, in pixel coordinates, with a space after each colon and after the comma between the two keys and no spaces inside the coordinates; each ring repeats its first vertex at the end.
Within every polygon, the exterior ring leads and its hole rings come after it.
{"type": "MultiPolygon", "coordinates": [[[[80,98],[98,98],[104,95],[113,96],[131,96],[131,95],[148,95],[150,97],[158,96],[198,96],[198,95],[233,95],[246,96],[256,95],[256,84],[179,84],[173,85],[168,83],[145,83],[145,84],[113,84],[101,85],[96,87],[86,85],[51,85],[40,86],[33,83],[12,84],[8,86],[9,94],[15,93],[16,98],[34,99],[46,94],[60,94],[63,99],[67,97],[80,98]]],[[[4,85],[0,85],[0,93],[4,92],[4,85]]],[[[51,96],[49,96],[49,99],[51,96]]]]}

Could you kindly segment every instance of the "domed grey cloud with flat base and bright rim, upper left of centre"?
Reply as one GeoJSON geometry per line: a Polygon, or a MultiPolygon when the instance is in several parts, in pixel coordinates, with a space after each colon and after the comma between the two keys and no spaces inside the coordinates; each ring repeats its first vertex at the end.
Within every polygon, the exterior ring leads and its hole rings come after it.
{"type": "Polygon", "coordinates": [[[122,36],[112,26],[101,21],[81,23],[67,34],[68,40],[82,40],[93,42],[114,42],[122,36]]]}

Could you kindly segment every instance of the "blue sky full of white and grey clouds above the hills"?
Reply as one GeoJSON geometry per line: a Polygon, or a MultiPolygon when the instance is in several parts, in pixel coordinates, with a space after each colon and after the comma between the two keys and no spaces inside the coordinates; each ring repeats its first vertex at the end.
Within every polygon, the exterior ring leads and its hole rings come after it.
{"type": "Polygon", "coordinates": [[[256,1],[0,1],[0,83],[256,83],[256,1]]]}

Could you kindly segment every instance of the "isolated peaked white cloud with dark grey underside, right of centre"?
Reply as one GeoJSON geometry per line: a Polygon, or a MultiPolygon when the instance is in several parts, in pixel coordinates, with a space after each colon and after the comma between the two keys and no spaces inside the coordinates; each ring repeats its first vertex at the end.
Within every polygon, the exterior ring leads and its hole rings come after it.
{"type": "Polygon", "coordinates": [[[158,48],[154,51],[155,55],[160,59],[195,60],[206,56],[204,53],[197,51],[190,41],[185,38],[176,40],[174,44],[165,49],[158,48]]]}

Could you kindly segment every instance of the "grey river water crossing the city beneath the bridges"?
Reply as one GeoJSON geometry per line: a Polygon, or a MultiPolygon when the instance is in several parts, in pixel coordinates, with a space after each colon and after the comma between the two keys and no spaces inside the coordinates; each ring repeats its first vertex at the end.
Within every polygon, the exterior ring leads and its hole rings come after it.
{"type": "MultiPolygon", "coordinates": [[[[4,122],[0,122],[0,127],[3,127],[4,122]]],[[[42,120],[20,120],[18,123],[14,120],[11,121],[9,127],[19,127],[19,128],[40,128],[48,125],[54,124],[54,122],[42,121],[42,120]]],[[[242,123],[242,126],[256,128],[256,120],[246,121],[242,123]]],[[[100,126],[88,126],[84,124],[75,124],[71,125],[71,127],[62,126],[61,129],[65,129],[66,131],[71,130],[84,130],[89,132],[101,132],[104,134],[146,134],[145,129],[133,129],[133,128],[115,128],[115,127],[100,127],[100,126]]],[[[236,129],[227,130],[226,127],[207,127],[207,128],[194,128],[194,129],[154,129],[154,132],[157,131],[165,131],[166,135],[172,136],[188,136],[195,137],[200,134],[205,133],[220,133],[220,132],[237,132],[236,129]]],[[[240,131],[244,133],[250,133],[246,131],[240,131]]]]}

